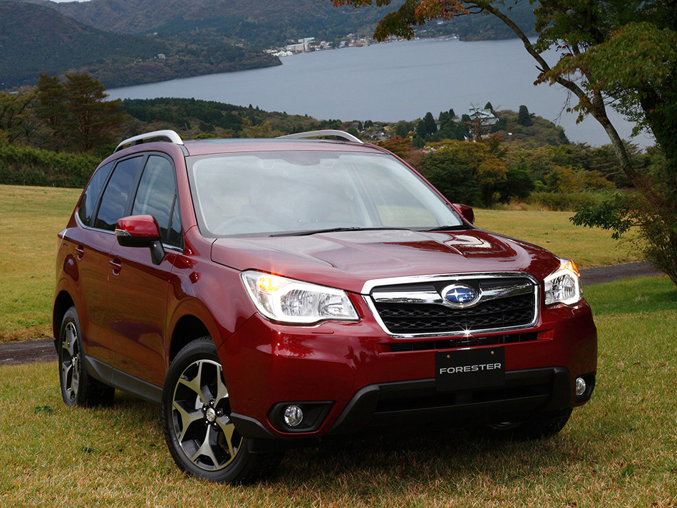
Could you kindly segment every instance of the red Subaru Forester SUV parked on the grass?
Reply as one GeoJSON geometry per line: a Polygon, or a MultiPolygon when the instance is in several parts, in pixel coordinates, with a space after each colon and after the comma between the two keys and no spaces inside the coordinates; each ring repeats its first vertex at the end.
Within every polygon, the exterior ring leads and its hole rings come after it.
{"type": "Polygon", "coordinates": [[[574,263],[381,147],[285,138],[157,131],[101,162],[58,234],[64,402],[160,404],[178,467],[225,482],[368,427],[559,432],[596,371],[574,263]]]}

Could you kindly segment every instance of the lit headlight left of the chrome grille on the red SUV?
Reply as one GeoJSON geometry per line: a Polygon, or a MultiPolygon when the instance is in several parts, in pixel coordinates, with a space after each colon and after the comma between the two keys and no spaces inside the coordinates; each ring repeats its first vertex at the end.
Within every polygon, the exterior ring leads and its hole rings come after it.
{"type": "Polygon", "coordinates": [[[308,325],[327,319],[358,321],[346,291],[260,271],[243,271],[240,276],[257,311],[272,321],[308,325]]]}

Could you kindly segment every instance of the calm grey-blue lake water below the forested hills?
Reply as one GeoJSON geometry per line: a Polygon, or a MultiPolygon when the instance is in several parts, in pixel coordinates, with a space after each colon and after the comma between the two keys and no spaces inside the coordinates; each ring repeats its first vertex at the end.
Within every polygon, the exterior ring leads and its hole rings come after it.
{"type": "MultiPolygon", "coordinates": [[[[552,64],[556,55],[547,56],[552,64]]],[[[387,122],[423,118],[428,111],[437,118],[450,108],[461,115],[470,105],[482,107],[490,101],[495,110],[517,111],[526,105],[530,113],[562,125],[574,142],[609,143],[596,120],[577,124],[576,115],[564,110],[567,90],[533,85],[536,62],[519,39],[401,41],[299,53],[281,61],[277,67],[114,88],[108,93],[113,99],[196,98],[321,120],[387,122]]],[[[613,111],[609,115],[621,137],[629,138],[632,125],[613,111]]],[[[653,145],[647,135],[633,142],[653,145]]]]}

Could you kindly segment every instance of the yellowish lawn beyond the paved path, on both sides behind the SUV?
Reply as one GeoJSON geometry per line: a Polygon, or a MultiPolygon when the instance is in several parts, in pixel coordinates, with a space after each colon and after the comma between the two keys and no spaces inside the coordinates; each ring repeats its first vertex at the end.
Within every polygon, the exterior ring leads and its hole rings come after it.
{"type": "MultiPolygon", "coordinates": [[[[51,337],[56,234],[81,190],[0,185],[0,227],[11,256],[0,259],[0,342],[51,337]]],[[[629,244],[574,227],[569,212],[476,211],[477,226],[542,245],[579,266],[636,261],[629,244]]]]}

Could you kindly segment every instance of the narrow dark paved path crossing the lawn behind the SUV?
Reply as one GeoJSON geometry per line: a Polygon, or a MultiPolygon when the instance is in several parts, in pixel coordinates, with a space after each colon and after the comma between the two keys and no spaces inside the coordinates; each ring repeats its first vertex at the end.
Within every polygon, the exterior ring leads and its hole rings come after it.
{"type": "MultiPolygon", "coordinates": [[[[614,266],[597,266],[581,270],[584,286],[661,274],[661,271],[656,270],[646,261],[616,264],[614,266]]],[[[0,366],[48,361],[56,361],[56,349],[51,338],[0,344],[0,366]]]]}

